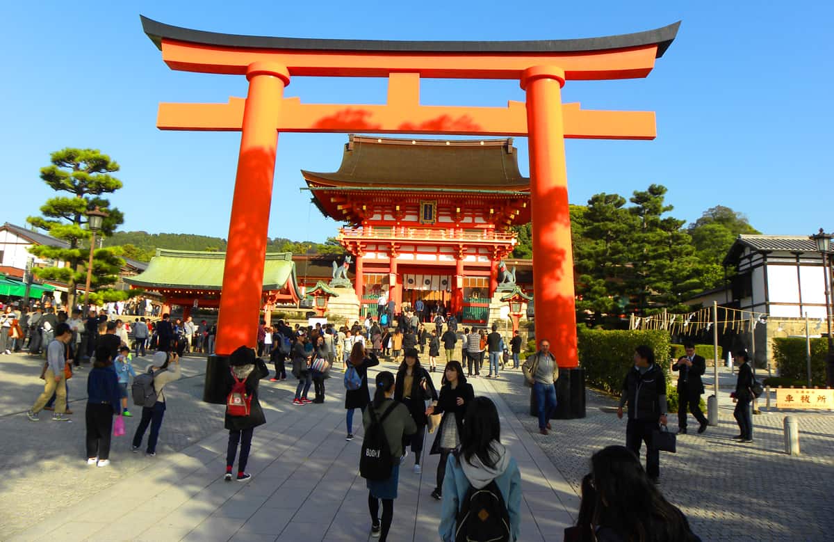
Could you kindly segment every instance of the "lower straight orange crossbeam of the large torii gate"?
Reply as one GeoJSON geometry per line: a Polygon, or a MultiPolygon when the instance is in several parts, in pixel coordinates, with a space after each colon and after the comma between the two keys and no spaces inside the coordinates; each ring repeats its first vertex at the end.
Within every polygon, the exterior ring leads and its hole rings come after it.
{"type": "MultiPolygon", "coordinates": [[[[164,130],[239,131],[242,98],[228,104],[159,104],[157,127],[164,130]]],[[[655,139],[651,111],[595,111],[562,106],[565,138],[655,139]]],[[[279,132],[374,132],[379,134],[527,135],[522,102],[506,108],[434,105],[302,104],[285,98],[279,132]]]]}

